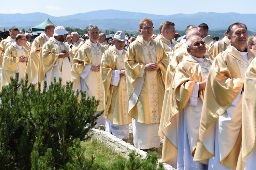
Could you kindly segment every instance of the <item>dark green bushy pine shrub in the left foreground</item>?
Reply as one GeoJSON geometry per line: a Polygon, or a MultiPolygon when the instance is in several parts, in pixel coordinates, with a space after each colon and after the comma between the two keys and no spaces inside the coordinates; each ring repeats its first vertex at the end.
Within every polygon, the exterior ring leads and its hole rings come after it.
{"type": "Polygon", "coordinates": [[[32,166],[34,169],[41,169],[38,167],[49,160],[54,167],[65,165],[73,139],[88,138],[88,131],[103,113],[94,116],[99,100],[86,99],[86,92],[81,91],[79,101],[73,83],[62,86],[61,79],[55,79],[48,91],[45,82],[41,92],[28,85],[27,75],[20,82],[18,73],[15,77],[0,92],[0,169],[30,169],[31,162],[35,165],[39,159],[43,163],[32,166]]]}

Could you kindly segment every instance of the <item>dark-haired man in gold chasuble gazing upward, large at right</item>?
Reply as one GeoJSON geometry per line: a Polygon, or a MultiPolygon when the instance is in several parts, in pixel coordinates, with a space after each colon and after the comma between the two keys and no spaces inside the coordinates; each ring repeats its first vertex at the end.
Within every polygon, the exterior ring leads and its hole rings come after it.
{"type": "Polygon", "coordinates": [[[247,47],[245,24],[228,27],[231,44],[209,71],[194,160],[209,158],[209,167],[236,169],[241,146],[245,71],[255,57],[247,47]]]}

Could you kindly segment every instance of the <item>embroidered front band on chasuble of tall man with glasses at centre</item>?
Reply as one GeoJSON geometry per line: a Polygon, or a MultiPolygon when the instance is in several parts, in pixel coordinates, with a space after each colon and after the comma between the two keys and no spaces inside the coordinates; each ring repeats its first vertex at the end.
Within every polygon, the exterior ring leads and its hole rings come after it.
{"type": "MultiPolygon", "coordinates": [[[[156,52],[154,46],[143,46],[143,53],[146,64],[156,63],[156,52]]],[[[150,123],[158,123],[158,84],[157,71],[145,70],[145,80],[147,81],[148,103],[150,111],[150,123]]]]}

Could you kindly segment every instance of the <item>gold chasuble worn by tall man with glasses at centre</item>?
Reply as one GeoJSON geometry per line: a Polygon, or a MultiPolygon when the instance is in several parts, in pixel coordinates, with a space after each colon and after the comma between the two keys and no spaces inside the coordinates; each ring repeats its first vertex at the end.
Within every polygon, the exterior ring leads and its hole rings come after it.
{"type": "Polygon", "coordinates": [[[160,122],[168,57],[161,45],[151,38],[146,46],[141,35],[129,46],[125,56],[129,115],[139,123],[160,122]],[[157,71],[145,70],[148,63],[156,63],[157,71]],[[128,71],[127,71],[128,70],[128,71]]]}

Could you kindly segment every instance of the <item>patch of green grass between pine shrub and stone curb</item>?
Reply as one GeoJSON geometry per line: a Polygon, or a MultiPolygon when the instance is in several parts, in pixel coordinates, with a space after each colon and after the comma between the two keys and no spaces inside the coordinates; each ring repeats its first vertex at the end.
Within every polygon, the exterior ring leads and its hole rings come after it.
{"type": "Polygon", "coordinates": [[[106,146],[105,143],[98,141],[94,137],[82,141],[81,145],[86,148],[85,159],[88,162],[90,162],[92,154],[96,157],[91,170],[111,169],[116,160],[126,160],[120,154],[115,153],[113,149],[106,146]]]}

